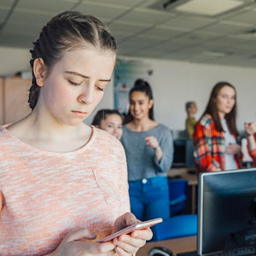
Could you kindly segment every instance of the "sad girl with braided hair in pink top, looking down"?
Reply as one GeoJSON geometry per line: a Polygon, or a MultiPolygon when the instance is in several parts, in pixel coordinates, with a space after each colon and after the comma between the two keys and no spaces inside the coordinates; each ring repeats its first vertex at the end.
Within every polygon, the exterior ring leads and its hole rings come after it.
{"type": "Polygon", "coordinates": [[[90,241],[137,222],[121,144],[83,123],[113,73],[113,36],[93,16],[64,12],[44,26],[31,53],[32,113],[0,127],[0,254],[137,252],[149,229],[90,241]]]}

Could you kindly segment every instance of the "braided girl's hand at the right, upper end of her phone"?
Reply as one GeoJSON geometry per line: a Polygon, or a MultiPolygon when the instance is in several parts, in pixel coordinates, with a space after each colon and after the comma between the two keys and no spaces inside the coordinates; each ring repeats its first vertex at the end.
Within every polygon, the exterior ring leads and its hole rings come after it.
{"type": "MultiPolygon", "coordinates": [[[[116,219],[113,224],[113,233],[140,222],[141,221],[139,221],[131,212],[127,212],[116,219]]],[[[143,230],[134,230],[130,234],[114,238],[113,244],[116,246],[114,249],[116,255],[131,256],[133,253],[137,253],[137,250],[140,247],[143,247],[146,241],[150,240],[152,236],[152,231],[149,228],[146,228],[143,230]]]]}

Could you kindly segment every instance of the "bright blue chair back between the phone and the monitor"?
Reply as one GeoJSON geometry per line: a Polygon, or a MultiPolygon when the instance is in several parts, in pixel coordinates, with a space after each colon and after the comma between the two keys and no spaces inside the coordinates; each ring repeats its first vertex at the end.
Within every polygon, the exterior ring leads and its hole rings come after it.
{"type": "Polygon", "coordinates": [[[183,236],[197,235],[197,215],[184,214],[167,218],[162,223],[152,227],[153,241],[166,240],[183,236]]]}

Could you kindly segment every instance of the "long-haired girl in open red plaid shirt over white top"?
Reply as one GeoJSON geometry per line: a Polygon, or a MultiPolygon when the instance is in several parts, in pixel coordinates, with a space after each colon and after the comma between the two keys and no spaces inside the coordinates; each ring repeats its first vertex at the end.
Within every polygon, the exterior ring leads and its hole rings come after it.
{"type": "Polygon", "coordinates": [[[236,143],[236,89],[227,82],[212,88],[207,108],[195,126],[195,162],[200,172],[239,168],[236,143]]]}

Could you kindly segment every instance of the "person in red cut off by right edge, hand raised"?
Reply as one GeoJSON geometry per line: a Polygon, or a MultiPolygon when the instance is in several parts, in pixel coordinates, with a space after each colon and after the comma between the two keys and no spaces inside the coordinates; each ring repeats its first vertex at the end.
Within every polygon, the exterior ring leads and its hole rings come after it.
{"type": "Polygon", "coordinates": [[[253,158],[253,166],[256,166],[256,122],[244,124],[247,135],[247,146],[251,157],[253,158]]]}

